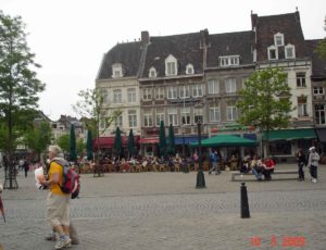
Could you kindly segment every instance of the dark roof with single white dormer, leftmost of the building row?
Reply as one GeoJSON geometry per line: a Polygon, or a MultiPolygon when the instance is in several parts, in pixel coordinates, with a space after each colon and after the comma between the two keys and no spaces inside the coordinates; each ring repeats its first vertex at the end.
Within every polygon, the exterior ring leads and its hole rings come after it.
{"type": "Polygon", "coordinates": [[[142,47],[141,41],[117,43],[114,46],[105,53],[97,79],[112,78],[112,64],[115,63],[122,64],[124,77],[137,77],[142,47]]]}

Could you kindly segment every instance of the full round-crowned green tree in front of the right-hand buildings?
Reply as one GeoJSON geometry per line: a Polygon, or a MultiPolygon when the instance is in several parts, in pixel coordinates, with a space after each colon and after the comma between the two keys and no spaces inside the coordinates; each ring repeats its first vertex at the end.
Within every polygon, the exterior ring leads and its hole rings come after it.
{"type": "MultiPolygon", "coordinates": [[[[292,111],[291,93],[287,84],[287,74],[281,70],[268,67],[254,72],[244,82],[239,93],[237,108],[241,114],[238,121],[240,124],[254,125],[266,135],[269,130],[289,126],[289,112],[292,111]]],[[[268,155],[268,136],[266,143],[268,155]]]]}

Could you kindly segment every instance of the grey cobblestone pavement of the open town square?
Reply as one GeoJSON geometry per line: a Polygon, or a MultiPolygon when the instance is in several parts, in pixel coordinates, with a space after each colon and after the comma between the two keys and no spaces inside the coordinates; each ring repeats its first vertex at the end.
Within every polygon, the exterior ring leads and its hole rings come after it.
{"type": "MultiPolygon", "coordinates": [[[[240,218],[241,183],[230,182],[227,172],[205,173],[204,189],[195,188],[196,173],[83,175],[80,199],[72,200],[80,245],[72,249],[324,250],[325,165],[318,175],[317,184],[298,182],[294,175],[272,182],[246,177],[250,218],[240,218]]],[[[32,173],[27,178],[21,173],[17,180],[20,189],[2,193],[7,223],[0,218],[0,243],[5,250],[53,249],[54,242],[43,240],[50,230],[47,191],[36,189],[32,173]]]]}

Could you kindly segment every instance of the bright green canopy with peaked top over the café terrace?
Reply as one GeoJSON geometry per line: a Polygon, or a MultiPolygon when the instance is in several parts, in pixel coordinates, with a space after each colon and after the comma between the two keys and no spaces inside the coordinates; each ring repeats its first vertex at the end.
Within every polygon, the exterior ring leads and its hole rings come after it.
{"type": "MultiPolygon", "coordinates": [[[[256,146],[255,140],[246,139],[239,136],[218,135],[201,141],[202,147],[233,147],[233,146],[256,146]]],[[[190,143],[191,147],[197,147],[198,142],[190,143]]]]}

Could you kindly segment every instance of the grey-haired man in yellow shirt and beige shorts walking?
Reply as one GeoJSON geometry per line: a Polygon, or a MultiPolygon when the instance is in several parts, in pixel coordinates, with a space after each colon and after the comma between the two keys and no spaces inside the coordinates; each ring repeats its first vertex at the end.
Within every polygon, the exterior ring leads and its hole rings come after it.
{"type": "Polygon", "coordinates": [[[63,182],[63,167],[54,159],[65,161],[62,155],[62,150],[59,146],[49,147],[50,167],[48,180],[42,180],[42,185],[48,187],[49,195],[47,197],[47,218],[50,225],[59,235],[54,248],[62,249],[71,247],[70,238],[70,193],[64,193],[60,185],[63,182]]]}

